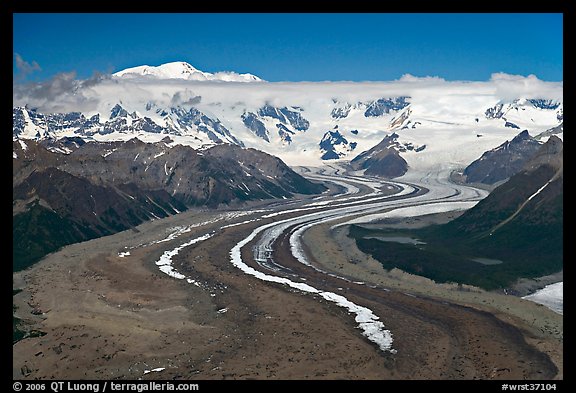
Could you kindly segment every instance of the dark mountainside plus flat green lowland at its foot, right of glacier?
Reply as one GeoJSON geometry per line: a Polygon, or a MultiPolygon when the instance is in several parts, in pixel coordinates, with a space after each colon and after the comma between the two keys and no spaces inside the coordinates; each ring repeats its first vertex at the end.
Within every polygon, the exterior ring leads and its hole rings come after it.
{"type": "Polygon", "coordinates": [[[412,231],[352,226],[350,233],[359,248],[385,268],[439,282],[496,289],[519,277],[558,272],[564,259],[562,156],[562,141],[550,137],[521,171],[447,224],[412,231]],[[390,232],[423,243],[373,239],[390,232]]]}

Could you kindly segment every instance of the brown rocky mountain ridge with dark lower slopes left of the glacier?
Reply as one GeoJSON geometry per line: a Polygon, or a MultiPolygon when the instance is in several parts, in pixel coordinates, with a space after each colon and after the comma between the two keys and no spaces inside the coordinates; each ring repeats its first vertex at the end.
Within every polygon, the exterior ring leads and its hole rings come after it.
{"type": "Polygon", "coordinates": [[[280,159],[233,145],[198,152],[128,142],[13,143],[13,264],[19,270],[59,247],[132,228],[190,206],[217,208],[290,198],[324,187],[280,159]]]}

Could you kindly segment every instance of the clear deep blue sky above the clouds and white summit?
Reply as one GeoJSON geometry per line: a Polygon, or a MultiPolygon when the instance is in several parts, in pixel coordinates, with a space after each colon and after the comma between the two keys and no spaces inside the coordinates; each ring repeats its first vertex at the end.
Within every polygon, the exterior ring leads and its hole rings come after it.
{"type": "Polygon", "coordinates": [[[31,66],[28,80],[170,61],[268,81],[406,73],[488,80],[494,72],[563,80],[562,14],[14,14],[13,21],[13,52],[31,66]]]}

